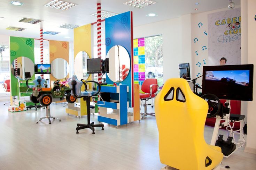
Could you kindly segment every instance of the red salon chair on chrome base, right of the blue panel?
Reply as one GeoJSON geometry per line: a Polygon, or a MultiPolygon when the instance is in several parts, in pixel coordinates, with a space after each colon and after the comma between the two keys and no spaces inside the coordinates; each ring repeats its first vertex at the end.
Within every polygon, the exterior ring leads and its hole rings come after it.
{"type": "MultiPolygon", "coordinates": [[[[148,113],[148,104],[146,101],[149,99],[153,99],[156,96],[156,92],[158,89],[157,85],[157,79],[155,78],[148,78],[145,79],[145,81],[141,85],[141,91],[144,93],[140,93],[140,100],[141,100],[141,106],[142,106],[142,101],[144,100],[145,103],[143,104],[144,107],[144,113],[142,114],[141,119],[143,119],[145,116],[150,115],[150,116],[155,116],[155,113],[148,113]]],[[[140,109],[141,109],[140,106],[140,109]]]]}

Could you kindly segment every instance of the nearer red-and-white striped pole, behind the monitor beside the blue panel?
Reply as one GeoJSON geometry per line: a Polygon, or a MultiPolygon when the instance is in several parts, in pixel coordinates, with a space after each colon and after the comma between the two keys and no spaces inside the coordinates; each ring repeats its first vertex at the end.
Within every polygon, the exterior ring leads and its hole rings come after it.
{"type": "MultiPolygon", "coordinates": [[[[98,58],[101,58],[101,3],[97,3],[97,51],[98,58]]],[[[102,83],[101,73],[98,74],[98,83],[102,83]]]]}

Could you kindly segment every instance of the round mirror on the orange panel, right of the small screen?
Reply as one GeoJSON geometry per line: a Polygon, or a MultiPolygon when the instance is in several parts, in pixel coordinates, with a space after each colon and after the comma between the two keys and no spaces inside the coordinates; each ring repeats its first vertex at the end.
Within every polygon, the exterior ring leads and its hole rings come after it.
{"type": "Polygon", "coordinates": [[[51,62],[51,71],[56,79],[63,79],[69,74],[69,64],[63,58],[56,58],[51,62]]]}

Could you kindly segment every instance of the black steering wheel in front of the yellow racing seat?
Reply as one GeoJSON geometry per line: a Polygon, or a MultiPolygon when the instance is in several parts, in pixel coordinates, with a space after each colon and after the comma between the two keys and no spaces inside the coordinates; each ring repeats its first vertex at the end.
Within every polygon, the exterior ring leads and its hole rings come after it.
{"type": "Polygon", "coordinates": [[[209,105],[209,109],[208,109],[207,118],[213,118],[217,116],[221,108],[219,98],[214,94],[204,94],[202,95],[202,98],[208,99],[207,103],[209,105]]]}

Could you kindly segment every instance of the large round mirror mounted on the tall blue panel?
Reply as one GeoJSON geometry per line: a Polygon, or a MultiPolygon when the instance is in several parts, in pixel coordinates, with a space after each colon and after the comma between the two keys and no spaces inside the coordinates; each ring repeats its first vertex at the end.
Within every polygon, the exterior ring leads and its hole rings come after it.
{"type": "Polygon", "coordinates": [[[109,58],[108,77],[113,82],[122,82],[131,66],[127,50],[121,45],[115,45],[108,51],[106,58],[109,58]]]}

